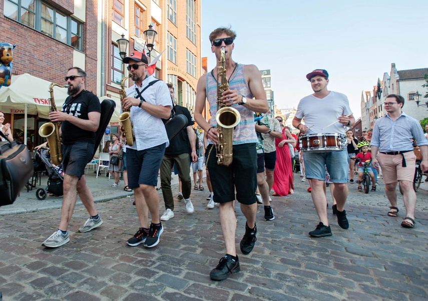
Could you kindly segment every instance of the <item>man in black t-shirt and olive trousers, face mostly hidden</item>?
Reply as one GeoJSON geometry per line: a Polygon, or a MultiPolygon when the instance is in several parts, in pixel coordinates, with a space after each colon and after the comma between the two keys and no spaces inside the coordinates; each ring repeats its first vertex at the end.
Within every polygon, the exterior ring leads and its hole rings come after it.
{"type": "MultiPolygon", "coordinates": [[[[174,101],[174,87],[168,83],[168,88],[171,94],[171,99],[174,101]]],[[[161,163],[161,186],[162,195],[165,202],[165,212],[161,216],[161,220],[166,221],[174,217],[174,198],[171,191],[171,168],[174,162],[177,166],[178,177],[181,180],[183,197],[187,213],[194,211],[192,201],[190,200],[190,192],[192,180],[190,179],[190,161],[198,160],[196,155],[195,142],[196,134],[193,131],[194,121],[187,108],[175,105],[176,114],[183,114],[187,117],[188,123],[180,133],[177,134],[165,150],[165,155],[161,163]]]]}

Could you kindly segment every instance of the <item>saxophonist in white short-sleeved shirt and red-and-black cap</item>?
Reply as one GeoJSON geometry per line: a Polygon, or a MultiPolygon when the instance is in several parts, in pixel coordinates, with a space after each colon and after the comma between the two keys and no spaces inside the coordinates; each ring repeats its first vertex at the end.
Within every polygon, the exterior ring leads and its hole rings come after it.
{"type": "Polygon", "coordinates": [[[134,85],[126,90],[122,100],[124,109],[130,109],[135,141],[126,146],[128,186],[134,189],[135,205],[140,228],[127,243],[131,246],[144,243],[154,247],[164,228],[159,219],[159,194],[156,191],[158,171],[169,145],[163,119],[171,115],[172,102],[168,86],[148,74],[147,57],[134,51],[123,59],[128,64],[134,85]],[[149,225],[148,211],[152,220],[149,225]]]}

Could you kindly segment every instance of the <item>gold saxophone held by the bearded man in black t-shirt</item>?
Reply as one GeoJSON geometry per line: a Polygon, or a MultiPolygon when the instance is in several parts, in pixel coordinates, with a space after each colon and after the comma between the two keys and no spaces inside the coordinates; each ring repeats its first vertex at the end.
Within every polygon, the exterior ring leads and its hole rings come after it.
{"type": "MultiPolygon", "coordinates": [[[[49,86],[49,92],[51,93],[51,106],[50,112],[58,111],[55,106],[54,99],[54,87],[68,88],[69,85],[61,86],[57,83],[52,83],[49,86]]],[[[48,139],[49,153],[51,154],[51,162],[55,165],[60,165],[63,161],[63,151],[61,150],[61,137],[60,137],[60,123],[59,122],[47,122],[43,124],[39,129],[39,135],[48,139]]]]}

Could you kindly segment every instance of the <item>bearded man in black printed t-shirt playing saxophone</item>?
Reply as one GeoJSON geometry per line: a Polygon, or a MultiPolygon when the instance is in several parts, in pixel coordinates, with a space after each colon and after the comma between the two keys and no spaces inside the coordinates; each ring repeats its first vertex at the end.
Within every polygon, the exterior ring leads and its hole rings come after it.
{"type": "Polygon", "coordinates": [[[79,229],[88,232],[103,223],[94,205],[94,197],[86,183],[85,166],[92,160],[95,132],[100,124],[101,104],[93,93],[85,90],[86,72],[78,67],[68,70],[65,78],[70,95],[60,111],[49,113],[52,122],[62,123],[62,153],[64,175],[64,197],[61,222],[42,245],[56,248],[70,241],[68,226],[77,201],[77,193],[90,218],[79,229]]]}

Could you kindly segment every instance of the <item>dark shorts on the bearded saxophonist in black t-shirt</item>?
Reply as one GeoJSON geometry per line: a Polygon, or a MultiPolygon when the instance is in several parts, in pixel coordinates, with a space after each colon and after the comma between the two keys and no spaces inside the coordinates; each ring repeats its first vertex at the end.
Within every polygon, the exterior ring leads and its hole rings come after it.
{"type": "Polygon", "coordinates": [[[76,142],[63,144],[63,169],[65,174],[77,176],[79,179],[85,174],[86,164],[92,161],[94,143],[76,142]]]}

